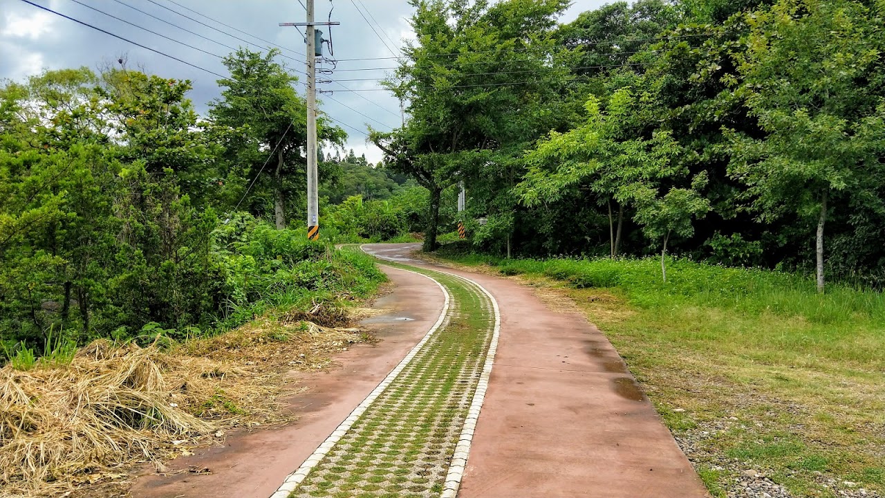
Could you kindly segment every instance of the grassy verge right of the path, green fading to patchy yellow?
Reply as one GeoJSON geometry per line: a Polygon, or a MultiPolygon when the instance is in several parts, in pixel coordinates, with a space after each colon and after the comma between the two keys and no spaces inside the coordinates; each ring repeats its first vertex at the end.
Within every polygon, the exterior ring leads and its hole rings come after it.
{"type": "Polygon", "coordinates": [[[713,496],[885,490],[885,297],[686,260],[437,256],[570,298],[612,340],[713,496]],[[750,478],[751,479],[751,478],[750,478]]]}

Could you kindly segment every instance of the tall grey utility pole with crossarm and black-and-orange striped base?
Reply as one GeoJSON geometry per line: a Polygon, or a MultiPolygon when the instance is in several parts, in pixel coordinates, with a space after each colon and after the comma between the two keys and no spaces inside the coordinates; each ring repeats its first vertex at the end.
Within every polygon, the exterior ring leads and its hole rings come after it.
{"type": "Polygon", "coordinates": [[[313,22],[313,1],[307,0],[307,22],[281,22],[280,26],[307,27],[307,238],[319,239],[319,195],[317,193],[317,57],[322,56],[322,31],[317,25],[337,26],[339,22],[313,22]],[[319,35],[319,36],[318,36],[319,35]],[[319,39],[318,39],[319,38],[319,39]],[[319,45],[319,46],[318,46],[319,45]]]}

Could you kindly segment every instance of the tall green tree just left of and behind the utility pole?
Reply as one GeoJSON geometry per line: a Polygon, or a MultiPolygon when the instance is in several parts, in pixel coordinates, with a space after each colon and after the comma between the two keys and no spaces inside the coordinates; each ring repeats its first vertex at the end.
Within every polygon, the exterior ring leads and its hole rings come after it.
{"type": "MultiPolygon", "coordinates": [[[[277,55],[276,49],[265,55],[240,49],[224,58],[231,75],[219,80],[221,97],[212,102],[209,115],[216,124],[241,129],[248,137],[239,144],[248,150],[241,152],[250,162],[248,178],[256,178],[268,153],[275,154],[275,167],[265,169],[258,188],[269,183],[273,218],[277,229],[283,229],[286,199],[306,190],[307,105],[294,88],[298,78],[275,60],[277,55]]],[[[319,114],[317,136],[340,144],[346,135],[319,114]]]]}

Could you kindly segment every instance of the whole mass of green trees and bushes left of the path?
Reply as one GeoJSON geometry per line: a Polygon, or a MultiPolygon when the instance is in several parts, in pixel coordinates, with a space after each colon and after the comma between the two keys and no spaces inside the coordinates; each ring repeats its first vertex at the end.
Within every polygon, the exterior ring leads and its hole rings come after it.
{"type": "MultiPolygon", "coordinates": [[[[304,190],[304,102],[273,55],[226,59],[209,121],[185,97],[189,82],[125,69],[0,87],[5,354],[53,334],[182,338],[377,284],[371,262],[269,223],[304,212],[291,202],[304,190]],[[247,86],[266,93],[243,96],[247,86]]],[[[342,140],[319,122],[326,144],[342,140]]]]}

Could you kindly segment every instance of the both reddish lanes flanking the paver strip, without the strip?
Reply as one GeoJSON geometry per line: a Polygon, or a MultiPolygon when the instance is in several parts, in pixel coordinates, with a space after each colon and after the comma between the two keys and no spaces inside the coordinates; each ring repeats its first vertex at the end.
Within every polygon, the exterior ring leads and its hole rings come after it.
{"type": "MultiPolygon", "coordinates": [[[[685,455],[617,352],[580,314],[553,312],[512,280],[416,261],[417,245],[366,245],[406,264],[466,276],[497,300],[501,331],[459,497],[707,498],[685,455]]],[[[146,472],[136,498],[266,498],[387,375],[435,322],[443,294],[423,276],[384,267],[396,284],[371,320],[378,346],[339,354],[341,368],[303,374],[289,400],[300,420],[227,438],[173,461],[209,475],[146,472]],[[402,320],[403,317],[412,320],[402,320]]]]}

